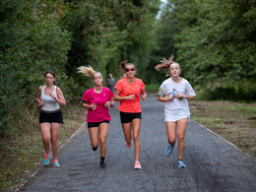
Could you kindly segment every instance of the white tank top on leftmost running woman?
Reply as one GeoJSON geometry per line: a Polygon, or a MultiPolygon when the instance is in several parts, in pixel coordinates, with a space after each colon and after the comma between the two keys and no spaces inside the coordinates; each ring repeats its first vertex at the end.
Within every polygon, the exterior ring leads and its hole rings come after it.
{"type": "MultiPolygon", "coordinates": [[[[41,110],[43,111],[47,111],[47,112],[54,112],[56,110],[59,110],[59,103],[51,96],[48,95],[44,95],[44,87],[42,87],[41,89],[41,101],[43,101],[43,105],[41,107],[41,110]]],[[[53,90],[53,94],[54,96],[58,97],[56,94],[56,86],[54,86],[54,90],[53,90]]]]}

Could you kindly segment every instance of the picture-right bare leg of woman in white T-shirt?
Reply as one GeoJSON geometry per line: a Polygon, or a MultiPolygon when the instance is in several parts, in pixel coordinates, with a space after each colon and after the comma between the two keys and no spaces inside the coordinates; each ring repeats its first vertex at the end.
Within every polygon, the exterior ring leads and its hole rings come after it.
{"type": "Polygon", "coordinates": [[[182,160],[185,148],[185,133],[187,129],[187,118],[177,121],[178,160],[182,160]]]}

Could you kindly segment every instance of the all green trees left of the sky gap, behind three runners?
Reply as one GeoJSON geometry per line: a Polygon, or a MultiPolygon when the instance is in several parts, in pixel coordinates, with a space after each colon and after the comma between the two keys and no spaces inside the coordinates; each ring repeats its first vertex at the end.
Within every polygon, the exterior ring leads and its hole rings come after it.
{"type": "Polygon", "coordinates": [[[68,101],[92,86],[77,74],[81,65],[118,79],[120,61],[128,60],[142,76],[155,47],[159,5],[160,0],[2,0],[0,136],[23,132],[29,124],[46,70],[57,74],[68,101]]]}

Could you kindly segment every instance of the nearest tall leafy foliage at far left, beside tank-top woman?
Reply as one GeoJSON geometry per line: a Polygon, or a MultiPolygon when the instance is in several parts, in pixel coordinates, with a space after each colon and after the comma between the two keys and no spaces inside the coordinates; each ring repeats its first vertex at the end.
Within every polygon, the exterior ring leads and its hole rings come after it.
{"type": "Polygon", "coordinates": [[[62,76],[70,48],[69,32],[59,25],[56,3],[0,2],[0,135],[19,128],[45,70],[62,76]]]}

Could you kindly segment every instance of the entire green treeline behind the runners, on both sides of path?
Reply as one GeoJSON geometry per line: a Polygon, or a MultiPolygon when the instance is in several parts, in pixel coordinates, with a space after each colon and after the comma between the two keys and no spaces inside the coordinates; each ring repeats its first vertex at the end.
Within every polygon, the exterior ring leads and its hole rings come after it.
{"type": "Polygon", "coordinates": [[[128,60],[146,85],[160,84],[154,66],[173,54],[202,98],[255,100],[255,0],[169,0],[157,19],[159,10],[160,0],[1,0],[0,136],[30,123],[46,70],[79,99],[92,86],[81,65],[118,79],[128,60]]]}

